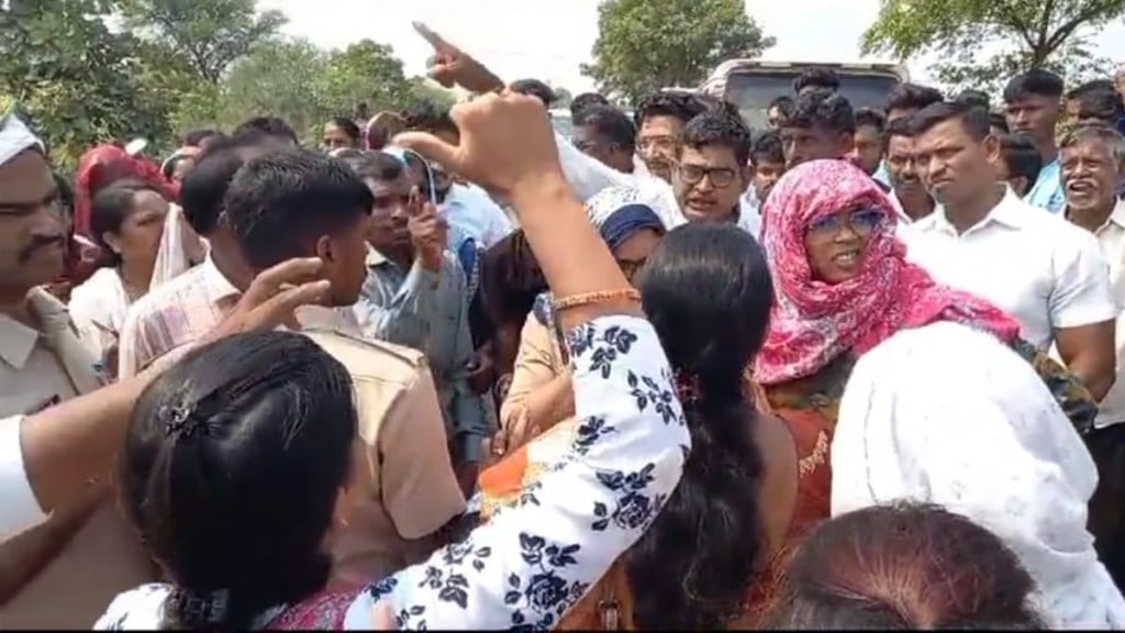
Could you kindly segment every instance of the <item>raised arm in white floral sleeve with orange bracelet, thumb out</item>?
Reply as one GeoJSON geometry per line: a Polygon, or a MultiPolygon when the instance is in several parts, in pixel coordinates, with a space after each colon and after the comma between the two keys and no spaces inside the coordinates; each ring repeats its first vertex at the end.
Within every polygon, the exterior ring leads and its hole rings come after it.
{"type": "Polygon", "coordinates": [[[345,627],[389,604],[399,628],[549,628],[644,534],[675,489],[690,436],[656,332],[566,186],[542,106],[489,95],[459,105],[461,144],[396,143],[513,200],[556,297],[582,420],[567,455],[462,543],[377,582],[345,627]]]}

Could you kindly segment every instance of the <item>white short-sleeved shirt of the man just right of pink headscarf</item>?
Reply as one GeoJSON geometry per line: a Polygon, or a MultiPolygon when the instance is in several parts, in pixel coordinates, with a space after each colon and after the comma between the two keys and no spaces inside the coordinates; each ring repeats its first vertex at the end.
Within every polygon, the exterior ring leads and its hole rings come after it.
{"type": "Polygon", "coordinates": [[[1007,311],[1024,339],[1043,350],[1055,329],[1109,321],[1120,312],[1094,235],[1028,205],[1010,188],[960,235],[939,206],[911,224],[906,238],[909,259],[936,280],[1007,311]]]}

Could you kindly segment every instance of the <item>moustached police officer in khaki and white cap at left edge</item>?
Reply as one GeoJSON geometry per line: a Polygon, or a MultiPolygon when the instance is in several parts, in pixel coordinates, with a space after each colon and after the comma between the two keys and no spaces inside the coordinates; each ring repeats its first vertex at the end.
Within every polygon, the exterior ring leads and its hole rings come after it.
{"type": "MultiPolygon", "coordinates": [[[[42,287],[62,274],[64,246],[42,145],[8,115],[0,121],[0,417],[35,413],[102,384],[66,307],[42,287]]],[[[87,501],[0,546],[0,628],[87,628],[118,591],[155,578],[116,511],[109,479],[91,482],[87,501]]]]}

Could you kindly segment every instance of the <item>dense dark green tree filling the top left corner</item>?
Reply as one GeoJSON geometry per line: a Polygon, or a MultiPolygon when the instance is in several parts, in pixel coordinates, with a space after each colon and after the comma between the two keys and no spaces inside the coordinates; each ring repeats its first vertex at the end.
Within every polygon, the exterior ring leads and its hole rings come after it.
{"type": "Polygon", "coordinates": [[[165,95],[138,80],[144,61],[127,33],[111,32],[104,0],[12,0],[0,5],[0,93],[73,167],[90,145],[170,135],[165,95]]]}

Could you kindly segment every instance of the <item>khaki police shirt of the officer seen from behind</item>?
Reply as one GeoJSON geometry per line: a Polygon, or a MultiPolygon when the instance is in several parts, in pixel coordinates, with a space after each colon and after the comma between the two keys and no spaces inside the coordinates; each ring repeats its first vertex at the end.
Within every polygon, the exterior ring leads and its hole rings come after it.
{"type": "Polygon", "coordinates": [[[333,582],[364,583],[423,560],[411,541],[465,511],[433,377],[422,353],[304,330],[351,374],[359,417],[358,502],[334,545],[333,582]]]}

